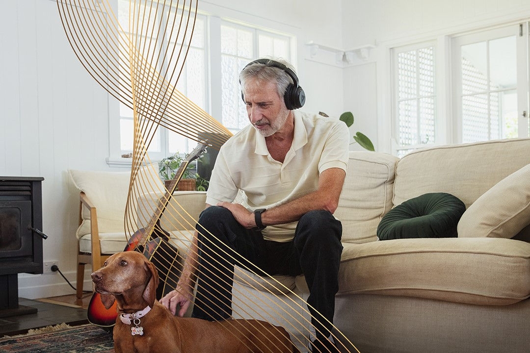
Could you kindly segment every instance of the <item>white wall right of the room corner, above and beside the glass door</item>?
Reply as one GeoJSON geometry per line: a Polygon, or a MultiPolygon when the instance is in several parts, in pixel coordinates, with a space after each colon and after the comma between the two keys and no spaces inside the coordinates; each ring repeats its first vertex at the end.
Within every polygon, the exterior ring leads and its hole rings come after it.
{"type": "Polygon", "coordinates": [[[343,0],[342,48],[376,46],[367,60],[343,71],[354,129],[367,134],[376,151],[391,152],[390,48],[529,17],[530,0],[343,0]]]}

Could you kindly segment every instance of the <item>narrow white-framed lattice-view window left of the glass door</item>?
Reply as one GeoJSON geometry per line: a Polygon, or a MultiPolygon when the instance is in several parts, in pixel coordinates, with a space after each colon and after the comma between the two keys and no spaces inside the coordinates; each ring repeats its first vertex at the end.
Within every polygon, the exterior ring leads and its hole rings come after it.
{"type": "Polygon", "coordinates": [[[408,152],[436,140],[435,47],[393,49],[395,153],[408,152]]]}

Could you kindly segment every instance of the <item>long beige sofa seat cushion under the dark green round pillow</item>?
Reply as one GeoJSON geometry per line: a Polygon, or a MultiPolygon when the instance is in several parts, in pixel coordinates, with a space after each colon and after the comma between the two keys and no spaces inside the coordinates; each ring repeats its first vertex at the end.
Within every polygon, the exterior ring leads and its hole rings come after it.
{"type": "Polygon", "coordinates": [[[530,296],[530,244],[500,238],[345,244],[339,293],[508,305],[530,296]]]}

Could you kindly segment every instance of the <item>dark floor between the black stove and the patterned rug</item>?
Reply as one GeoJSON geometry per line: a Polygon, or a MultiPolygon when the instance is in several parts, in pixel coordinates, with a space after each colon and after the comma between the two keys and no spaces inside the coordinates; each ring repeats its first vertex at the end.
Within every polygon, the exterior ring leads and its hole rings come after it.
{"type": "Polygon", "coordinates": [[[0,317],[0,338],[60,323],[72,326],[87,323],[86,308],[91,298],[92,293],[85,293],[81,300],[75,294],[35,300],[19,298],[19,306],[37,309],[37,312],[0,317]]]}

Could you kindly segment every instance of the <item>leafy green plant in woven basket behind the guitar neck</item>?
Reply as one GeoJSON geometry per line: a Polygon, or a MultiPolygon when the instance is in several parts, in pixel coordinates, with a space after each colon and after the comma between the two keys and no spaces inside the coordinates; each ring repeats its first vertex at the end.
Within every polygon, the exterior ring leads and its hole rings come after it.
{"type": "MultiPolygon", "coordinates": [[[[164,180],[166,187],[168,187],[171,180],[175,178],[176,171],[184,160],[185,158],[177,151],[174,155],[166,157],[158,163],[158,173],[164,180]]],[[[197,160],[197,163],[199,162],[200,159],[197,160]]],[[[176,186],[176,190],[178,191],[206,191],[207,188],[208,180],[202,178],[191,163],[184,169],[182,178],[176,186]]]]}

